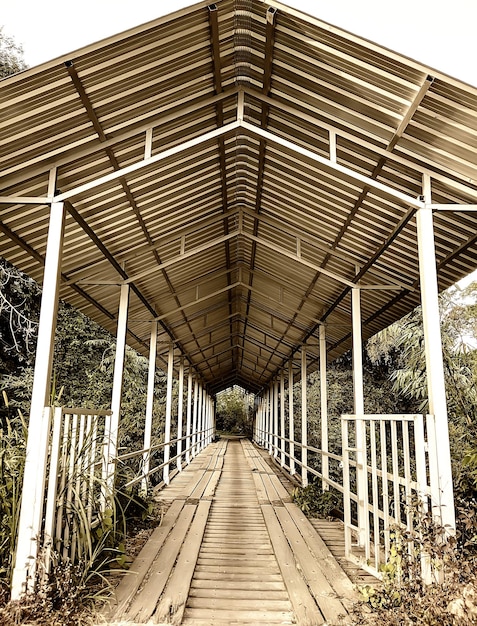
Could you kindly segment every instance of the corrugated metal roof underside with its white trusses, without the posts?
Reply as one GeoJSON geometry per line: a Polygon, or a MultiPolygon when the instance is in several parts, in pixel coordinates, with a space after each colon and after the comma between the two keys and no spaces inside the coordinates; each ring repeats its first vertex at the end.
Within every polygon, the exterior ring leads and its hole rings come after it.
{"type": "MultiPolygon", "coordinates": [[[[214,393],[258,391],[326,324],[349,349],[419,303],[416,210],[477,203],[477,91],[285,6],[200,3],[0,83],[0,254],[128,343],[151,322],[214,393]],[[56,178],[55,178],[56,176],[56,178]],[[12,198],[11,201],[6,198],[12,198]],[[35,200],[36,198],[36,200],[35,200]]],[[[447,207],[449,208],[449,207],[447,207]]],[[[453,209],[454,207],[450,207],[453,209]]],[[[477,214],[436,210],[439,289],[477,214]]]]}

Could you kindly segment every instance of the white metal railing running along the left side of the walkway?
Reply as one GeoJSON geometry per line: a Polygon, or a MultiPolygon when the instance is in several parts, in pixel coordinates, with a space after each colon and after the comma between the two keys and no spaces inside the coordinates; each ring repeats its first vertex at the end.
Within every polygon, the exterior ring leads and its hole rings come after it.
{"type": "MultiPolygon", "coordinates": [[[[38,467],[35,484],[24,485],[23,497],[42,513],[36,523],[20,528],[15,564],[15,597],[34,590],[37,556],[47,575],[58,555],[72,562],[92,558],[91,531],[101,524],[112,506],[114,474],[120,465],[128,465],[129,480],[120,485],[130,489],[143,486],[152,475],[162,471],[169,480],[169,469],[180,471],[213,439],[211,422],[197,432],[161,442],[135,452],[109,458],[108,420],[112,411],[84,408],[45,407],[42,440],[31,459],[38,467]],[[183,445],[183,442],[185,446],[183,445]],[[165,455],[164,450],[168,447],[165,455]],[[166,459],[164,458],[166,457],[166,459]],[[137,461],[134,467],[134,461],[137,461]]],[[[161,477],[157,480],[161,482],[161,477]]],[[[23,502],[22,502],[23,506],[23,502]]]]}

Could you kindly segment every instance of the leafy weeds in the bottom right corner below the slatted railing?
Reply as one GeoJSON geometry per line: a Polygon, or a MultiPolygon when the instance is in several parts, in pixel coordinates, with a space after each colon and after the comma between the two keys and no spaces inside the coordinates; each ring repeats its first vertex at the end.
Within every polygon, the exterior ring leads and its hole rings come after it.
{"type": "Polygon", "coordinates": [[[414,530],[395,529],[382,582],[360,588],[368,611],[356,609],[357,624],[464,626],[477,623],[475,563],[463,559],[453,537],[429,513],[413,506],[414,530]],[[424,582],[421,565],[431,572],[424,582]]]}

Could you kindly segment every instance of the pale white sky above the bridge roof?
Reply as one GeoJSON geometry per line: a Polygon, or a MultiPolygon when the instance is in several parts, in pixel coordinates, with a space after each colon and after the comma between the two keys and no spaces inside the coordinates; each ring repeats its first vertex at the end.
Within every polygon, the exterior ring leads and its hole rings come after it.
{"type": "MultiPolygon", "coordinates": [[[[0,26],[23,45],[25,60],[33,66],[193,3],[0,0],[0,26]]],[[[477,86],[477,0],[285,0],[284,4],[477,86]]]]}

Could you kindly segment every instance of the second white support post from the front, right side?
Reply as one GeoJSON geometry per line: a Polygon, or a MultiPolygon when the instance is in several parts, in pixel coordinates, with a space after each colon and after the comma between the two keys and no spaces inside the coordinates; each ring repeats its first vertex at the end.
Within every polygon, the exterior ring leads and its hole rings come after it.
{"type": "MultiPolygon", "coordinates": [[[[365,545],[368,536],[368,468],[364,431],[363,347],[361,336],[361,293],[359,287],[351,292],[353,324],[353,393],[356,415],[356,480],[358,493],[359,545],[365,545]]],[[[344,494],[346,498],[349,494],[344,494]]]]}

